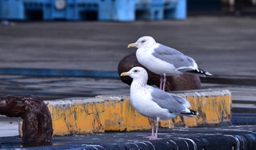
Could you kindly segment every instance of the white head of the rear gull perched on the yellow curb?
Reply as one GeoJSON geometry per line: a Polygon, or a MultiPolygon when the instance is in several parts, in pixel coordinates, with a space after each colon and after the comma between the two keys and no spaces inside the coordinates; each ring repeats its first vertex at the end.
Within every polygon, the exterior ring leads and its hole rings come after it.
{"type": "Polygon", "coordinates": [[[128,48],[130,47],[137,47],[137,48],[147,48],[151,47],[152,44],[156,44],[157,42],[151,36],[142,36],[137,42],[129,44],[128,48]]]}

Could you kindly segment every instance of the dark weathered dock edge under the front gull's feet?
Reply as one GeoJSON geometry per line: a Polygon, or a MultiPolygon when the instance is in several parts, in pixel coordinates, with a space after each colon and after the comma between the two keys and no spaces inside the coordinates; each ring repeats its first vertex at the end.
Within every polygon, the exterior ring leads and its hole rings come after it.
{"type": "MultiPolygon", "coordinates": [[[[53,146],[23,149],[256,149],[256,126],[181,127],[160,129],[159,139],[148,140],[143,136],[150,130],[125,133],[99,133],[54,137],[53,146]]],[[[0,148],[19,148],[20,138],[0,138],[0,148]]]]}

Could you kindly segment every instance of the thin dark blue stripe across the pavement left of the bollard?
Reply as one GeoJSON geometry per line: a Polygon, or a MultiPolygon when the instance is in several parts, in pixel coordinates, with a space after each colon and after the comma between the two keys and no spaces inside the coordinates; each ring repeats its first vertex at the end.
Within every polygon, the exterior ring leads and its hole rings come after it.
{"type": "Polygon", "coordinates": [[[75,76],[107,79],[119,78],[119,75],[116,71],[88,71],[68,69],[0,68],[0,74],[23,76],[75,76]]]}

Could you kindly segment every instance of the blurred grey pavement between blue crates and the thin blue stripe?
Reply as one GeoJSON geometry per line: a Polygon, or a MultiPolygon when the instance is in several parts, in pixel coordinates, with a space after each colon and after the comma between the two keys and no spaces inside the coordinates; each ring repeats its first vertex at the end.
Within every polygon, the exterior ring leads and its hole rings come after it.
{"type": "Polygon", "coordinates": [[[254,17],[189,17],[0,25],[0,68],[116,71],[119,60],[135,52],[127,45],[149,35],[212,74],[255,76],[255,23],[254,17]]]}

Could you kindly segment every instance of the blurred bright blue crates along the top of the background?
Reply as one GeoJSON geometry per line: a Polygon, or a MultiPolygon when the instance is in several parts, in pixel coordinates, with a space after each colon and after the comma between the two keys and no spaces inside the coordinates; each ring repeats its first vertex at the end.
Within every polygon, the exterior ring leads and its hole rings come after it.
{"type": "Polygon", "coordinates": [[[42,12],[43,20],[84,20],[93,13],[97,15],[96,20],[118,21],[187,17],[187,0],[66,0],[61,9],[56,7],[57,1],[59,0],[2,0],[0,19],[29,20],[29,14],[26,13],[28,11],[42,12]]]}

